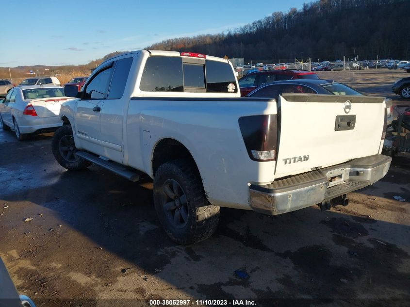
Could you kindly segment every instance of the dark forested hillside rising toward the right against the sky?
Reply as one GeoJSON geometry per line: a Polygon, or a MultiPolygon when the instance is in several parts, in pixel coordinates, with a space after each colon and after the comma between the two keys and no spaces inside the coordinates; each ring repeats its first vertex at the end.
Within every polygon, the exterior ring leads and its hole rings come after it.
{"type": "Polygon", "coordinates": [[[246,59],[409,59],[409,32],[408,0],[320,0],[225,33],[167,39],[147,49],[246,59]]]}

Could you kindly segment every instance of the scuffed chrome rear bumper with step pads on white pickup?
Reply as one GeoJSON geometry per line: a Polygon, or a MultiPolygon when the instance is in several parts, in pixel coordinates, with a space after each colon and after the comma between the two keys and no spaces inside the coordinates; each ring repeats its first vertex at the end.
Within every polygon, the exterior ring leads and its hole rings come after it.
{"type": "Polygon", "coordinates": [[[374,155],[274,181],[251,185],[251,208],[277,215],[328,201],[383,178],[391,157],[374,155]]]}

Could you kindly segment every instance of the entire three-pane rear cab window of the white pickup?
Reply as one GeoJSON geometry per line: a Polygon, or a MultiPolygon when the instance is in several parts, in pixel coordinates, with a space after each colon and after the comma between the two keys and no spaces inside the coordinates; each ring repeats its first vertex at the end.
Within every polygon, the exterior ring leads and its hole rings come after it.
{"type": "Polygon", "coordinates": [[[140,90],[191,93],[238,92],[236,78],[229,63],[172,56],[148,57],[140,90]]]}

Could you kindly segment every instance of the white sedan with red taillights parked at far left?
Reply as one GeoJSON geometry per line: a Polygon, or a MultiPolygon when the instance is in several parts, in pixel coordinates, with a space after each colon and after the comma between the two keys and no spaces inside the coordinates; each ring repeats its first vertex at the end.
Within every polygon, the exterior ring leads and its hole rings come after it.
{"type": "Polygon", "coordinates": [[[0,128],[14,129],[19,141],[31,133],[54,131],[63,124],[60,108],[69,99],[61,86],[15,87],[0,100],[0,128]]]}

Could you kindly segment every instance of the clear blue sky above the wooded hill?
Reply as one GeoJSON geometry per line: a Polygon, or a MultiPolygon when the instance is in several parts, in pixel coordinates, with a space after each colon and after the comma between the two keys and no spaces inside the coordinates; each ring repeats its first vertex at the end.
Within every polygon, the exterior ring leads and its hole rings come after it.
{"type": "Polygon", "coordinates": [[[163,39],[219,33],[309,0],[1,0],[0,66],[79,65],[163,39]]]}

